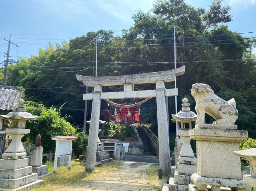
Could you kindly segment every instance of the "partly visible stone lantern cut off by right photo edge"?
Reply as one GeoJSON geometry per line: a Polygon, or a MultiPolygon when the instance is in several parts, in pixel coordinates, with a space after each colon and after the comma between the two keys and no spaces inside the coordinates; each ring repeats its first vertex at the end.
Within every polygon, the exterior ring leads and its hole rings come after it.
{"type": "Polygon", "coordinates": [[[243,178],[246,184],[256,188],[256,148],[234,151],[234,153],[236,156],[249,159],[250,175],[244,174],[243,178]]]}

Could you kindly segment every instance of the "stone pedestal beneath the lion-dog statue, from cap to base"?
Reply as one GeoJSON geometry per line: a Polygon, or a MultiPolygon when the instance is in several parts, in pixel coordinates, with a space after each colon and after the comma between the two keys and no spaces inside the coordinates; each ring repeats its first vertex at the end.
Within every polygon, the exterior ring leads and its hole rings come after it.
{"type": "MultiPolygon", "coordinates": [[[[242,180],[240,158],[234,155],[239,142],[248,138],[247,131],[236,130],[231,124],[197,124],[189,130],[190,138],[196,140],[197,173],[192,182],[200,191],[220,190],[228,186],[236,191],[250,191],[251,187],[242,180]]],[[[196,189],[190,185],[189,190],[196,189]]]]}

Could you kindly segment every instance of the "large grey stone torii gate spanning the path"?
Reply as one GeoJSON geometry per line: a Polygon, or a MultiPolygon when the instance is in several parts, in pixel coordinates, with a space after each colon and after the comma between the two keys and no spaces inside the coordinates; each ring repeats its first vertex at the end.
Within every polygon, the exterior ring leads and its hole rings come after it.
{"type": "Polygon", "coordinates": [[[170,145],[165,96],[177,96],[178,89],[166,89],[164,83],[174,81],[175,77],[183,75],[184,71],[185,66],[168,71],[125,76],[90,77],[76,75],[78,81],[83,82],[87,87],[94,87],[92,93],[84,94],[83,97],[83,100],[92,100],[92,114],[86,154],[86,171],[92,171],[95,168],[101,100],[156,97],[160,168],[164,175],[170,174],[170,145]],[[134,91],[135,84],[148,83],[156,83],[156,89],[134,91]],[[124,91],[102,93],[102,86],[115,85],[124,85],[124,91]]]}

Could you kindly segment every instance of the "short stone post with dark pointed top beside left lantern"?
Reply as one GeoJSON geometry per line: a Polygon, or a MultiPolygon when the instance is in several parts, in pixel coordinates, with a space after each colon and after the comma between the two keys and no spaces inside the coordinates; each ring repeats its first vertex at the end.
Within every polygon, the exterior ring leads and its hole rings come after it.
{"type": "Polygon", "coordinates": [[[43,147],[41,147],[41,140],[41,136],[38,134],[36,136],[36,145],[32,148],[30,161],[30,165],[33,169],[32,172],[37,173],[39,178],[51,174],[48,173],[48,165],[42,165],[43,147]]]}

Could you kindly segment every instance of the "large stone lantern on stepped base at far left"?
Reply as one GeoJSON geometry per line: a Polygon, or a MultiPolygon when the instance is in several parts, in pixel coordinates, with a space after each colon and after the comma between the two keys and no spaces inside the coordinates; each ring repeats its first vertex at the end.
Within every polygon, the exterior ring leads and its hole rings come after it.
{"type": "Polygon", "coordinates": [[[38,116],[27,113],[24,106],[24,100],[21,99],[16,111],[0,115],[2,119],[12,120],[12,128],[6,129],[6,134],[10,134],[12,142],[0,160],[0,190],[26,189],[44,181],[38,180],[37,173],[32,173],[28,158],[25,158],[26,152],[21,138],[30,132],[30,129],[25,129],[26,121],[36,120],[38,116]]]}

